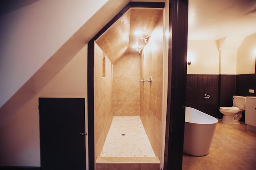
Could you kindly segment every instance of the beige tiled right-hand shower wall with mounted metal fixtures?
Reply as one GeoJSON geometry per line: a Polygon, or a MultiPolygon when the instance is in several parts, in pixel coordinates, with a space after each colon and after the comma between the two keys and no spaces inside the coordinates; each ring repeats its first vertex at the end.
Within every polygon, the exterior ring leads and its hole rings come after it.
{"type": "Polygon", "coordinates": [[[141,57],[141,74],[145,79],[152,76],[152,84],[140,84],[140,117],[152,148],[160,158],[162,128],[162,78],[163,78],[163,24],[162,16],[153,29],[150,41],[141,57]]]}

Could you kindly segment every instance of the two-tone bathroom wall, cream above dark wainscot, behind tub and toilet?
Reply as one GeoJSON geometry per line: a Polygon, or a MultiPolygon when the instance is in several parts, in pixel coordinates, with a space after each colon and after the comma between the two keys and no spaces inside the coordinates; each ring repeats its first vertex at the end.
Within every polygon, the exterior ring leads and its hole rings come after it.
{"type": "MultiPolygon", "coordinates": [[[[249,92],[256,88],[255,39],[256,33],[248,35],[232,49],[230,44],[221,46],[223,40],[188,40],[192,59],[187,66],[186,106],[222,119],[219,107],[232,106],[233,95],[255,96],[249,92]]],[[[225,41],[230,43],[228,37],[225,41]]]]}

